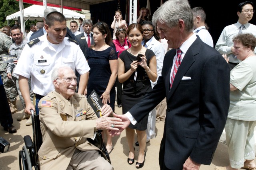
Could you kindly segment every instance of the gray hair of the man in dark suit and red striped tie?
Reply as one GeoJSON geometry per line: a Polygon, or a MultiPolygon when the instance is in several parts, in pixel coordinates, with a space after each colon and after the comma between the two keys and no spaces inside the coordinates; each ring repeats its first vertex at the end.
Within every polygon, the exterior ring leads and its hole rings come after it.
{"type": "Polygon", "coordinates": [[[193,14],[188,0],[168,0],[156,10],[152,17],[153,25],[157,22],[172,28],[178,25],[179,20],[185,23],[187,32],[193,31],[193,14]]]}

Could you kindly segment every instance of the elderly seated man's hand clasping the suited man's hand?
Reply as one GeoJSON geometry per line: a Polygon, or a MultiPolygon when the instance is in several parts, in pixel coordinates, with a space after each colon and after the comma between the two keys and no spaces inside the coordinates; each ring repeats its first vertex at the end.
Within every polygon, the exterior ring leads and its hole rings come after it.
{"type": "Polygon", "coordinates": [[[116,117],[99,117],[96,119],[96,128],[98,130],[119,131],[118,128],[121,128],[123,124],[122,119],[116,117]]]}

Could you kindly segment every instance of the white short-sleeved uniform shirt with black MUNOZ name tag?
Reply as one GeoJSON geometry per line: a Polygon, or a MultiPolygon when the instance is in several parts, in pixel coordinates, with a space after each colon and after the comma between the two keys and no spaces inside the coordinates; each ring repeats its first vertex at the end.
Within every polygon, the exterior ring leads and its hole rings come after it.
{"type": "Polygon", "coordinates": [[[51,45],[46,34],[39,39],[31,47],[25,45],[14,71],[26,78],[31,76],[31,89],[35,94],[46,96],[54,90],[51,74],[56,66],[70,66],[80,75],[90,70],[80,47],[67,37],[58,45],[51,45]]]}

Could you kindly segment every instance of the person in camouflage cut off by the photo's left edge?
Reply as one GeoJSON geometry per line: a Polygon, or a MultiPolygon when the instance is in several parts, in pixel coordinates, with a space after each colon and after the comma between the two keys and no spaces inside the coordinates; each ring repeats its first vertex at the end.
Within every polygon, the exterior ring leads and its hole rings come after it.
{"type": "Polygon", "coordinates": [[[12,45],[12,39],[6,34],[0,32],[0,75],[2,76],[2,82],[4,84],[4,89],[6,91],[6,96],[11,108],[11,113],[17,111],[16,100],[17,100],[17,90],[15,83],[7,78],[6,67],[7,63],[2,60],[3,55],[8,55],[10,46],[12,45]]]}

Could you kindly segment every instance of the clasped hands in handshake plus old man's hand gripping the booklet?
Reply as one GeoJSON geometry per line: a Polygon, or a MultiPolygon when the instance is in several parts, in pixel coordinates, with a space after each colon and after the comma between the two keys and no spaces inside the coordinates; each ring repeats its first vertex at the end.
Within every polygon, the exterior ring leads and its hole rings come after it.
{"type": "Polygon", "coordinates": [[[102,106],[101,115],[96,119],[96,128],[98,130],[109,130],[111,136],[120,135],[120,133],[129,126],[130,120],[126,115],[117,115],[113,113],[114,117],[108,117],[113,111],[107,104],[102,106]]]}

